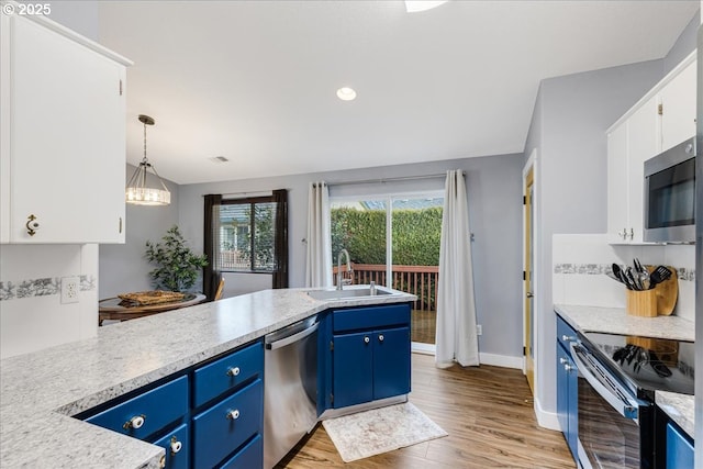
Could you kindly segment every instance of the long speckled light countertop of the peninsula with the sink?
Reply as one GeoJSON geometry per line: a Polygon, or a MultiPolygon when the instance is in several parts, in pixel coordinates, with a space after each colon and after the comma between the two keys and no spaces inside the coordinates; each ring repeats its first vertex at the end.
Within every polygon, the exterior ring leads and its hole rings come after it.
{"type": "Polygon", "coordinates": [[[70,417],[336,306],[413,301],[402,292],[317,301],[265,290],[100,327],[98,336],[0,361],[4,468],[157,468],[164,450],[70,417]]]}

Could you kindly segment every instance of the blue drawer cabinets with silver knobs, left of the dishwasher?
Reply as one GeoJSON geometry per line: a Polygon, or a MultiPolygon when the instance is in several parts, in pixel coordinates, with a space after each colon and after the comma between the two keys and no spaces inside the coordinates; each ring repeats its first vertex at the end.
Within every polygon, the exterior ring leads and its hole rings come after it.
{"type": "Polygon", "coordinates": [[[257,340],[77,417],[163,447],[168,469],[260,468],[263,379],[257,340]]]}

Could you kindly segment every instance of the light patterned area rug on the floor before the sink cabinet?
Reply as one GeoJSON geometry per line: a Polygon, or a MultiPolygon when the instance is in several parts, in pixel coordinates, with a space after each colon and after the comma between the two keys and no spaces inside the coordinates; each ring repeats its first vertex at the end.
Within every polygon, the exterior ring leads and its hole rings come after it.
{"type": "Polygon", "coordinates": [[[410,402],[322,422],[345,462],[448,434],[410,402]]]}

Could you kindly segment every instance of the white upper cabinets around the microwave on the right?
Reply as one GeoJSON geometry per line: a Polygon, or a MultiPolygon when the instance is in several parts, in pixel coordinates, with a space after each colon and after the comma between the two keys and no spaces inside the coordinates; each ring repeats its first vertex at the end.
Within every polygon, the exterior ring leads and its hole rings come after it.
{"type": "Polygon", "coordinates": [[[607,235],[643,244],[645,161],[695,135],[692,54],[607,130],[607,235]]]}

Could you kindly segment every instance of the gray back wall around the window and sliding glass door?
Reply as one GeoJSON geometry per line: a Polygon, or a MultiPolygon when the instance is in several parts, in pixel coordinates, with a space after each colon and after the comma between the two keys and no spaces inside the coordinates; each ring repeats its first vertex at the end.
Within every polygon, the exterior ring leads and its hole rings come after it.
{"type": "MultiPolygon", "coordinates": [[[[180,226],[198,249],[202,248],[202,196],[289,189],[290,284],[303,287],[308,221],[308,186],[312,181],[339,181],[424,176],[462,169],[469,199],[477,316],[483,325],[480,351],[522,355],[522,155],[465,158],[416,165],[319,172],[289,177],[235,180],[179,187],[180,226]]],[[[431,180],[428,180],[431,181],[431,180]]],[[[437,181],[428,182],[437,188],[437,181]]],[[[439,181],[439,187],[442,183],[439,181]]],[[[417,188],[417,187],[415,187],[417,188]]],[[[228,286],[227,288],[236,288],[228,286]]]]}

